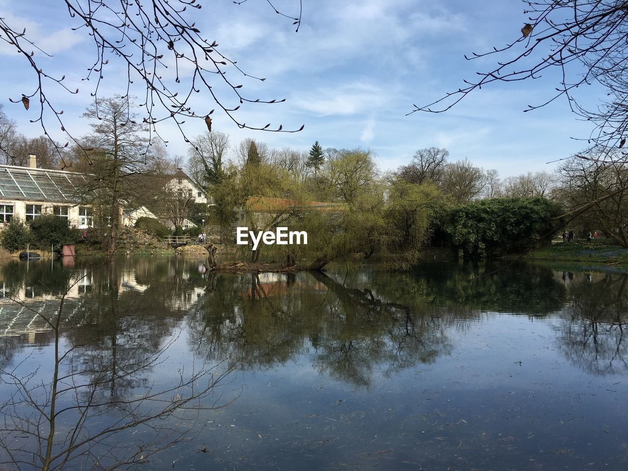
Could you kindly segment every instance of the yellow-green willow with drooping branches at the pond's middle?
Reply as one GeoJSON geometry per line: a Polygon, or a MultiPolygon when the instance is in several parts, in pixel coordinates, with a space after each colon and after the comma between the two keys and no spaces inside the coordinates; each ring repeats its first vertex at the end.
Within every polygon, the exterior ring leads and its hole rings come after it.
{"type": "Polygon", "coordinates": [[[396,267],[407,267],[418,259],[428,240],[430,215],[441,200],[435,187],[391,185],[379,176],[374,154],[364,149],[337,151],[317,178],[327,188],[323,201],[313,201],[298,187],[289,187],[293,193],[278,187],[291,199],[266,200],[268,208],[261,204],[264,200],[252,205],[265,216],[258,217],[265,222],[260,229],[282,225],[308,234],[307,245],[264,247],[267,259],[311,270],[355,254],[385,255],[386,264],[396,267]]]}

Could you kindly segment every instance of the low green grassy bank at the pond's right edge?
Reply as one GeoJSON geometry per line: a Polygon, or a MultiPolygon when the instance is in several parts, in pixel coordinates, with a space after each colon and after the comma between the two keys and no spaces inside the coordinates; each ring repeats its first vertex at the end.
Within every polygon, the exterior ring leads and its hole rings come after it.
{"type": "Polygon", "coordinates": [[[628,264],[628,249],[612,245],[610,241],[555,242],[530,252],[526,259],[628,264]]]}

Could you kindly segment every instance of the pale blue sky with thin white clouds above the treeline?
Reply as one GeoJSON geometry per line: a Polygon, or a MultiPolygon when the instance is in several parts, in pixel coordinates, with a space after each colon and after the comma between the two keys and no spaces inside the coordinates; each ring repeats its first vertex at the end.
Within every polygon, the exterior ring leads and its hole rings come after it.
{"type": "MultiPolygon", "coordinates": [[[[494,65],[494,56],[467,61],[464,55],[521,36],[527,19],[520,0],[303,0],[298,32],[266,0],[198,1],[203,8],[188,9],[187,18],[203,36],[219,43],[222,54],[237,60],[247,75],[266,78],[260,82],[229,70],[229,77],[242,84],[242,94],[286,99],[278,104],[244,104],[237,112],[239,119],[257,126],[270,122],[275,129],[279,124],[284,129],[305,125],[292,134],[251,131],[240,129],[217,110],[213,129],[229,134],[234,147],[241,139],[253,138],[271,148],[307,150],[314,141],[323,148],[369,148],[382,170],[389,170],[409,163],[417,149],[434,146],[447,148],[452,161],[468,158],[505,178],[553,170],[556,164],[548,162],[585,148],[586,143],[577,139],[592,131],[590,123],[571,114],[565,99],[523,112],[551,96],[558,81],[552,72],[538,80],[484,87],[443,114],[406,116],[413,104],[428,104],[494,65]]],[[[94,61],[95,48],[85,30],[72,29],[78,23],[64,4],[0,0],[0,18],[16,30],[26,28],[27,37],[51,55],[36,51],[34,56],[46,73],[65,75],[67,87],[79,89],[70,94],[58,85],[46,85],[48,99],[63,109],[65,128],[80,136],[90,129],[81,114],[93,100],[94,81],[82,78],[94,61]]],[[[276,0],[273,5],[298,16],[298,0],[276,0]]],[[[126,90],[121,63],[114,57],[110,62],[100,84],[102,96],[126,90]]],[[[30,137],[42,133],[39,123],[30,122],[38,118],[37,107],[26,111],[9,98],[31,94],[34,79],[30,64],[0,42],[0,103],[19,131],[30,137]]],[[[239,104],[220,84],[213,89],[224,103],[239,104]]],[[[141,95],[142,90],[135,92],[141,95]]],[[[592,104],[603,97],[593,86],[579,93],[592,104]]],[[[207,90],[201,90],[193,104],[201,111],[217,108],[207,90]]],[[[51,136],[67,141],[53,116],[44,118],[51,136]]],[[[202,120],[188,120],[183,127],[187,136],[205,131],[202,120]]],[[[187,154],[187,143],[171,122],[159,124],[158,131],[168,141],[171,155],[187,154]]]]}

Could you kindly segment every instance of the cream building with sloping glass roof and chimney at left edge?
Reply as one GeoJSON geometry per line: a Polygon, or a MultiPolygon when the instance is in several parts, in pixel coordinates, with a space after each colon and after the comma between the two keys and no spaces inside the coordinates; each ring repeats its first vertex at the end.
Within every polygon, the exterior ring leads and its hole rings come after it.
{"type": "Polygon", "coordinates": [[[37,168],[34,155],[28,166],[0,165],[0,224],[14,217],[29,221],[55,214],[80,229],[94,224],[92,208],[80,205],[73,189],[85,185],[80,173],[37,168]]]}

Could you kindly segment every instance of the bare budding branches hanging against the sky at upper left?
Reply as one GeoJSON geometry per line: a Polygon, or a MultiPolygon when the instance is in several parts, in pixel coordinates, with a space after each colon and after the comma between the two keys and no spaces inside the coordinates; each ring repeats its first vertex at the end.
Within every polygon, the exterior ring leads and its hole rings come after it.
{"type": "MultiPolygon", "coordinates": [[[[127,80],[122,86],[124,91],[120,90],[121,94],[124,97],[144,97],[141,121],[148,123],[154,133],[158,132],[155,125],[165,119],[171,119],[181,133],[183,122],[193,118],[204,119],[211,129],[210,114],[214,110],[197,109],[193,105],[197,92],[203,92],[213,100],[239,127],[296,132],[286,131],[281,125],[251,126],[237,117],[237,110],[242,104],[274,104],[285,99],[252,98],[242,93],[242,84],[236,77],[265,79],[254,77],[243,70],[236,60],[225,57],[219,45],[208,40],[198,30],[194,16],[202,6],[196,0],[152,0],[147,3],[127,0],[57,0],[57,3],[61,10],[67,10],[68,24],[84,32],[93,42],[94,56],[88,58],[88,63],[79,66],[78,70],[87,70],[84,79],[90,80],[85,83],[93,84],[90,92],[95,102],[100,99],[100,87],[104,85],[107,71],[115,64],[126,70],[127,80]],[[184,75],[183,70],[190,72],[184,75]],[[237,74],[226,73],[228,71],[237,74]]],[[[300,4],[298,14],[284,14],[272,4],[271,7],[276,13],[291,19],[298,31],[300,4]]],[[[0,18],[0,41],[15,48],[24,59],[24,69],[16,70],[16,75],[30,70],[35,82],[32,89],[24,90],[21,97],[13,97],[11,101],[19,106],[23,104],[27,110],[31,109],[35,114],[31,121],[40,123],[46,136],[50,135],[51,126],[55,123],[54,127],[60,127],[68,140],[78,145],[80,141],[73,137],[63,123],[60,104],[54,102],[51,96],[53,90],[64,90],[70,95],[78,94],[79,90],[73,89],[65,75],[50,75],[46,72],[43,63],[50,54],[45,52],[46,45],[36,44],[30,34],[31,31],[18,30],[10,19],[0,18]]],[[[68,74],[72,72],[75,71],[68,70],[68,74]]]]}

